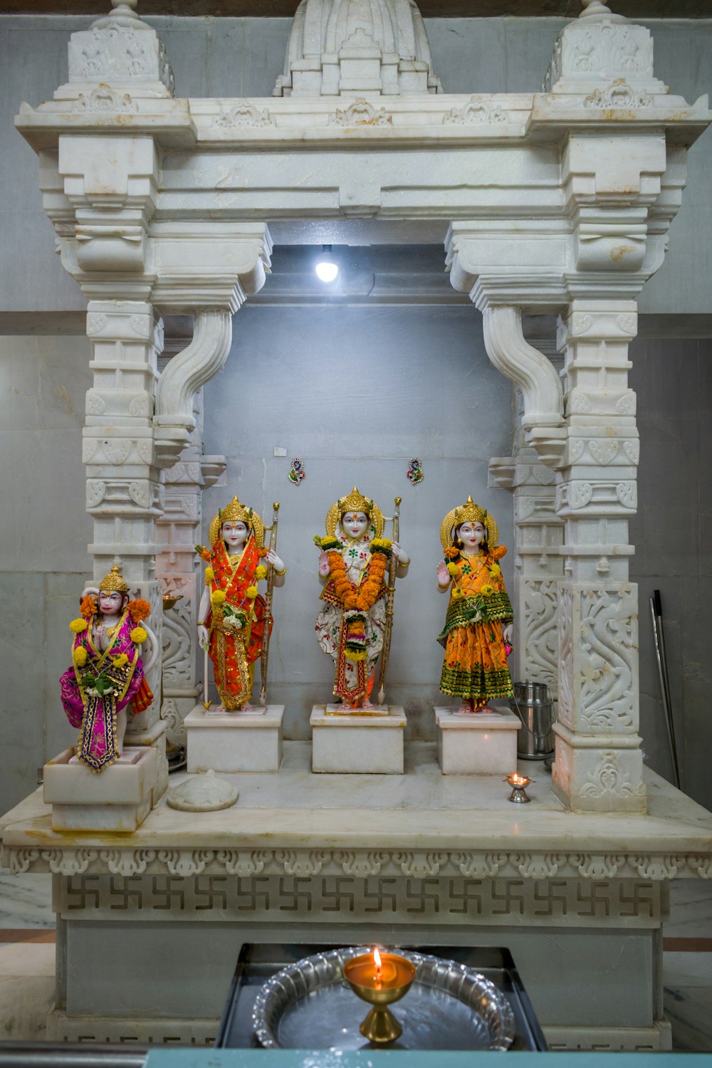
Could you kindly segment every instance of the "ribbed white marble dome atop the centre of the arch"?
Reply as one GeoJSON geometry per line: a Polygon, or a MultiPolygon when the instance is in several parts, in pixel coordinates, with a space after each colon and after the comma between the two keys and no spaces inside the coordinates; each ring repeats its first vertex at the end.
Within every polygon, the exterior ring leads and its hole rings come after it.
{"type": "Polygon", "coordinates": [[[301,0],[275,96],[441,92],[414,0],[301,0]]]}

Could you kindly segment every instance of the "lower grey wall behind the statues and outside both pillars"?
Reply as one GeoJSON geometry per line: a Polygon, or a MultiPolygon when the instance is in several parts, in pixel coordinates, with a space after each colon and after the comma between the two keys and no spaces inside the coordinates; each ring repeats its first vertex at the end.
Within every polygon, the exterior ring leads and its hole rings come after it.
{"type": "MultiPolygon", "coordinates": [[[[685,786],[712,805],[712,343],[634,343],[632,384],[642,437],[637,553],[640,731],[648,763],[669,775],[648,598],[661,590],[685,786]]],[[[72,744],[57,679],[68,665],[68,621],[91,574],[81,424],[91,381],[85,337],[0,339],[0,811],[34,788],[36,769],[72,744]]],[[[314,634],[320,583],[312,537],[354,482],[389,511],[404,499],[412,555],[398,584],[389,697],[410,731],[431,729],[444,600],[433,567],[442,516],[468,492],[485,501],[511,545],[511,498],[486,489],[490,455],[511,446],[509,384],[489,365],[470,307],[251,307],[235,318],[225,371],[206,388],[206,451],[227,455],[226,486],[205,493],[206,522],[234,492],[263,514],[282,502],[286,584],[275,592],[272,700],[292,737],[332,685],[314,634]],[[274,446],[287,457],[274,457],[274,446]],[[292,456],[306,478],[292,486],[292,456]],[[425,481],[406,478],[420,456],[425,481]]],[[[204,538],[206,534],[204,534],[204,538]]],[[[512,557],[504,562],[511,588],[512,557]]]]}

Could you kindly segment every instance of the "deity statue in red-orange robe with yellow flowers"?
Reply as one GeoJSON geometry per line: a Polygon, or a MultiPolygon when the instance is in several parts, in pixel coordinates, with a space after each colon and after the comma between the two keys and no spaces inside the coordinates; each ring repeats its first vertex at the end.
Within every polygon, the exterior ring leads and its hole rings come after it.
{"type": "Polygon", "coordinates": [[[268,575],[262,561],[271,565],[275,586],[284,585],[286,567],[273,549],[265,549],[265,525],[257,513],[240,504],[237,497],[213,516],[208,538],[210,548],[195,546],[208,565],[199,609],[199,638],[212,661],[221,708],[254,711],[250,698],[255,661],[272,629],[265,598],[257,592],[257,583],[268,575]]]}

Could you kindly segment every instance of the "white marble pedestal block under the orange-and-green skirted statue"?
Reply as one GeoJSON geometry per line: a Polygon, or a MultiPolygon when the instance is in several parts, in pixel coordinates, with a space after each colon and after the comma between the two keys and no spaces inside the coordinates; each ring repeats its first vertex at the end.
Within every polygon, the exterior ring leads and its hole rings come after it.
{"type": "Polygon", "coordinates": [[[459,714],[436,708],[438,763],[444,775],[508,775],[517,771],[517,732],[522,725],[505,708],[459,714]]]}

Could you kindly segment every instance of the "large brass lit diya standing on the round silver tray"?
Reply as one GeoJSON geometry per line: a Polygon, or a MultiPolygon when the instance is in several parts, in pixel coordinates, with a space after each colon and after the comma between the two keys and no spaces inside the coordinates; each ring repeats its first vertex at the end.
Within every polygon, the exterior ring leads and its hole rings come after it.
{"type": "Polygon", "coordinates": [[[365,953],[344,964],[344,978],[354,994],[373,1005],[359,1031],[364,1038],[379,1046],[393,1042],[402,1027],[389,1005],[410,990],[416,968],[412,961],[395,953],[365,953]]]}

